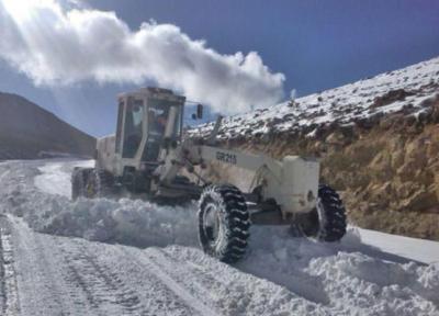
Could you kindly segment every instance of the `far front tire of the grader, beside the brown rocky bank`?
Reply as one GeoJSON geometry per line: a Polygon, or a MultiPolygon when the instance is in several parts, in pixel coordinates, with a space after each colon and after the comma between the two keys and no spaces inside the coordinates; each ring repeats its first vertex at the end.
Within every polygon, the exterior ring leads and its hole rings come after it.
{"type": "Polygon", "coordinates": [[[346,234],[346,210],[337,192],[320,184],[316,208],[306,214],[297,226],[301,234],[318,241],[340,240],[346,234]]]}

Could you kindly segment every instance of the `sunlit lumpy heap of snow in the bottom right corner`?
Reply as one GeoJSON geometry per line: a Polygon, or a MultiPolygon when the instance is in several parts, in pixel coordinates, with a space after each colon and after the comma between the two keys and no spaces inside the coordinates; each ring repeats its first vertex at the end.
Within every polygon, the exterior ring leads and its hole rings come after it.
{"type": "Polygon", "coordinates": [[[318,278],[340,309],[368,315],[437,315],[439,269],[398,264],[363,253],[314,258],[305,270],[318,278]],[[342,284],[344,286],[340,286],[342,284]]]}

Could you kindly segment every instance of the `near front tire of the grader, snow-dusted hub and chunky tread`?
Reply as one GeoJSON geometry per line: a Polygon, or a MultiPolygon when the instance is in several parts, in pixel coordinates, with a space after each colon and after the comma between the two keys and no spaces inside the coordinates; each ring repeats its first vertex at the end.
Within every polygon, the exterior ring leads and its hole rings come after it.
{"type": "Polygon", "coordinates": [[[250,221],[243,193],[233,185],[206,187],[199,204],[199,237],[204,252],[227,263],[247,248],[250,221]]]}

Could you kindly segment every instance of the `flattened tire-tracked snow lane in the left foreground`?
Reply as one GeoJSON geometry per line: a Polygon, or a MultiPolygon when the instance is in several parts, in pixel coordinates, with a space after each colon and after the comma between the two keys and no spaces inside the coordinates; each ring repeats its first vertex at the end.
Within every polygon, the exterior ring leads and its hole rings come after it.
{"type": "Polygon", "coordinates": [[[10,315],[217,315],[124,246],[38,234],[9,217],[22,296],[10,315]]]}

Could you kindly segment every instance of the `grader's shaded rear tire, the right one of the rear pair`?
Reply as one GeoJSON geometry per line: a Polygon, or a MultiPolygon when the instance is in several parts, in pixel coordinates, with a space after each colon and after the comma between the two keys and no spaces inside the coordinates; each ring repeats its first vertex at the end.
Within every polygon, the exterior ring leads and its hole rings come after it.
{"type": "Polygon", "coordinates": [[[86,196],[111,198],[115,194],[114,177],[105,170],[93,169],[87,179],[86,196]]]}

